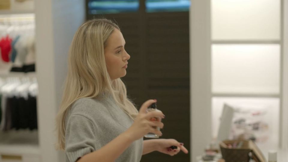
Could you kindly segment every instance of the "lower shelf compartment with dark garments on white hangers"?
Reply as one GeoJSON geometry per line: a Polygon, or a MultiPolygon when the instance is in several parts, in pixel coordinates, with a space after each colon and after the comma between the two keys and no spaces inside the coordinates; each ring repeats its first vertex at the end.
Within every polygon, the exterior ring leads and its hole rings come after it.
{"type": "Polygon", "coordinates": [[[1,121],[0,132],[11,130],[37,130],[36,77],[8,77],[0,79],[1,121]]]}

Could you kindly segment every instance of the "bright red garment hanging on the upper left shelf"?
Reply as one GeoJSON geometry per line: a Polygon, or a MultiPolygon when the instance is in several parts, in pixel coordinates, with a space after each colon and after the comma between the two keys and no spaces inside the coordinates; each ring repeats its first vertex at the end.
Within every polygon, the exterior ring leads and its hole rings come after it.
{"type": "Polygon", "coordinates": [[[0,41],[0,48],[1,48],[1,56],[2,60],[5,62],[9,62],[9,54],[11,52],[11,42],[12,39],[7,35],[6,37],[3,37],[0,41]]]}

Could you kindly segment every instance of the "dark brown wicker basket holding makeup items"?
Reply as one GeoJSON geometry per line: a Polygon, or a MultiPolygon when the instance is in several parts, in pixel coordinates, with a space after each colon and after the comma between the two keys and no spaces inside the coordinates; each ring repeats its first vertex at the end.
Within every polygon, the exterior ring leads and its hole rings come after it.
{"type": "Polygon", "coordinates": [[[220,149],[222,157],[225,162],[249,162],[249,152],[252,150],[249,148],[249,143],[246,140],[227,140],[220,143],[220,149]],[[233,145],[234,143],[243,142],[240,148],[228,148],[226,146],[233,145]]]}

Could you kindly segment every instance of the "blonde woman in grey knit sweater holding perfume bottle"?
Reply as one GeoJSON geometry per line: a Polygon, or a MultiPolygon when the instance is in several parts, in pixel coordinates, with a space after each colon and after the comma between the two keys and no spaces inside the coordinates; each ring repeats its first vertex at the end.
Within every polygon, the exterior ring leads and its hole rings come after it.
{"type": "Polygon", "coordinates": [[[162,135],[150,121],[162,112],[146,112],[156,100],[146,101],[139,112],[127,98],[121,77],[130,55],[119,27],[107,19],[93,19],[79,27],[70,46],[68,74],[57,115],[58,149],[69,162],[139,162],[142,155],[159,151],[188,153],[174,139],[144,140],[149,132],[162,135]],[[170,146],[178,146],[170,149],[170,146]]]}

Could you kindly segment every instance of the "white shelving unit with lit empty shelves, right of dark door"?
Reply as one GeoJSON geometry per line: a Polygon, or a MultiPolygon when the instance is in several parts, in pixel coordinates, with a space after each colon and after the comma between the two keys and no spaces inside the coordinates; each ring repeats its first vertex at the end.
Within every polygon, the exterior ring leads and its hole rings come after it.
{"type": "Polygon", "coordinates": [[[272,144],[258,146],[266,158],[286,152],[287,11],[287,0],[191,0],[191,161],[217,135],[224,102],[267,107],[272,144]]]}

